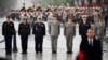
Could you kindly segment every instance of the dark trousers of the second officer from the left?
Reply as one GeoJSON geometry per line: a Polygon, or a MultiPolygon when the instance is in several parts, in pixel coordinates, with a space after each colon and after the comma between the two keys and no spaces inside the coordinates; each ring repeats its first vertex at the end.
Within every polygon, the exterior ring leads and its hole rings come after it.
{"type": "Polygon", "coordinates": [[[22,36],[21,35],[21,42],[22,42],[22,51],[23,52],[25,52],[25,51],[27,51],[27,45],[28,45],[28,35],[26,35],[26,36],[22,36]]]}

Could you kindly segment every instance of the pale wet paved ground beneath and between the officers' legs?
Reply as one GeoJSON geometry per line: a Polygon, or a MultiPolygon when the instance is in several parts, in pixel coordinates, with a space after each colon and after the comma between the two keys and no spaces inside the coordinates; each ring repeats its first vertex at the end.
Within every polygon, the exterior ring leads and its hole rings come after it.
{"type": "MultiPolygon", "coordinates": [[[[2,28],[2,22],[4,18],[0,19],[0,41],[3,40],[3,36],[1,35],[1,28],[2,28]]],[[[15,28],[17,30],[18,28],[18,21],[15,21],[15,28]]],[[[46,25],[46,24],[45,24],[46,25]]],[[[60,28],[60,35],[58,39],[58,49],[56,55],[52,55],[51,52],[51,40],[50,35],[46,33],[44,36],[43,41],[43,54],[35,54],[35,39],[33,35],[31,34],[29,36],[29,42],[28,42],[28,54],[27,55],[22,55],[21,54],[21,38],[17,34],[17,47],[18,47],[18,52],[13,52],[12,56],[5,56],[4,51],[4,42],[0,43],[0,57],[8,57],[12,60],[75,60],[78,51],[79,51],[79,45],[81,42],[81,38],[78,34],[78,27],[76,28],[76,36],[73,39],[73,54],[72,55],[67,55],[66,54],[66,40],[65,36],[63,35],[64,28],[60,28]]],[[[48,28],[46,28],[48,32],[48,28]]],[[[107,44],[104,44],[104,49],[107,49],[107,44]]],[[[103,60],[108,59],[108,50],[104,52],[103,60]]]]}

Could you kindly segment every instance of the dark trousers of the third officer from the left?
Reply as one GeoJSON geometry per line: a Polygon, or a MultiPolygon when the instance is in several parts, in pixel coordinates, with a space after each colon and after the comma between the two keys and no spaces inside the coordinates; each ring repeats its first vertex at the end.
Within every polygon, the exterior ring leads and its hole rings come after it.
{"type": "Polygon", "coordinates": [[[35,36],[36,52],[42,52],[43,36],[35,36]]]}

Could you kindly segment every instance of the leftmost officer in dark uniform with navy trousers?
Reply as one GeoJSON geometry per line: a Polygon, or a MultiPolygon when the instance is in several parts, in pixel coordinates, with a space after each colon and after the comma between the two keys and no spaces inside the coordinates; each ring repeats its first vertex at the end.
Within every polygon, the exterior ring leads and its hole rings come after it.
{"type": "Polygon", "coordinates": [[[6,55],[12,54],[12,35],[14,35],[15,28],[13,21],[11,21],[11,17],[6,16],[6,21],[2,25],[2,35],[4,35],[5,40],[5,51],[6,55]]]}

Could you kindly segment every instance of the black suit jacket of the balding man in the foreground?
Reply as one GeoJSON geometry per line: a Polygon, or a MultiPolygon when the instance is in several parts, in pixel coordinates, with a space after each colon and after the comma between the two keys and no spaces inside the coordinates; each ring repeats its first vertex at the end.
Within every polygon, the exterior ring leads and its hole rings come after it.
{"type": "Polygon", "coordinates": [[[80,45],[80,51],[84,51],[86,60],[102,60],[100,41],[94,38],[93,46],[89,44],[89,40],[83,40],[80,45]]]}

